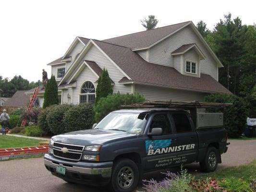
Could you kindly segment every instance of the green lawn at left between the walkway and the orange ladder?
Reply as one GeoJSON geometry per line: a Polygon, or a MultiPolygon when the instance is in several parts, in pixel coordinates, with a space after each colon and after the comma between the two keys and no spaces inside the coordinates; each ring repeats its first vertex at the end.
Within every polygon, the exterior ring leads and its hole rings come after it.
{"type": "Polygon", "coordinates": [[[38,146],[44,140],[28,139],[23,137],[0,135],[0,149],[12,147],[38,146]]]}

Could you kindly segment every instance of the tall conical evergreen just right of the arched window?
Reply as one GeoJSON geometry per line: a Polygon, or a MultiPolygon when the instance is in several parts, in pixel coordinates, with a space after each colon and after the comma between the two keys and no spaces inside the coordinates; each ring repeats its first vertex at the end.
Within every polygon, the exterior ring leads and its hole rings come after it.
{"type": "Polygon", "coordinates": [[[107,97],[112,93],[113,93],[113,89],[112,89],[111,79],[110,79],[108,70],[103,69],[100,77],[98,78],[95,103],[97,104],[100,98],[107,97]]]}

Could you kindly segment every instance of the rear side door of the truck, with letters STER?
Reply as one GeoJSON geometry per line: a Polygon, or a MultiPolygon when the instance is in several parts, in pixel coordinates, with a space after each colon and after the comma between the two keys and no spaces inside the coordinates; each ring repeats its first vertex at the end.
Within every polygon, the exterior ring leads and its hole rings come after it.
{"type": "Polygon", "coordinates": [[[174,149],[177,152],[174,164],[194,162],[197,157],[198,141],[193,122],[186,112],[173,111],[170,114],[177,146],[174,149]]]}

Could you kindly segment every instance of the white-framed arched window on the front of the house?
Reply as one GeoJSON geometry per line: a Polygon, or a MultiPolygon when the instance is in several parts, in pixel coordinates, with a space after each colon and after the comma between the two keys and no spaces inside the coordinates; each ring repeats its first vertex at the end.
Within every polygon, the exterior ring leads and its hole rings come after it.
{"type": "Polygon", "coordinates": [[[80,103],[91,103],[95,100],[95,86],[92,82],[86,81],[81,88],[80,103]]]}

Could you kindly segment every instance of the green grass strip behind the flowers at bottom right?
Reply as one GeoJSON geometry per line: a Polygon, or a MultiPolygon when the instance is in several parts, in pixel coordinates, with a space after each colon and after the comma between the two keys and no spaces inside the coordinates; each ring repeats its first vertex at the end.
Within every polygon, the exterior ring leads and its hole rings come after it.
{"type": "Polygon", "coordinates": [[[256,172],[256,160],[237,167],[219,169],[212,173],[203,173],[198,178],[204,179],[211,177],[221,180],[234,177],[236,179],[243,178],[243,180],[249,181],[253,172],[256,172]]]}

